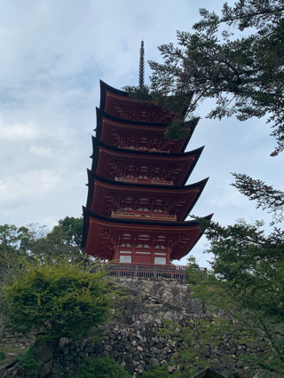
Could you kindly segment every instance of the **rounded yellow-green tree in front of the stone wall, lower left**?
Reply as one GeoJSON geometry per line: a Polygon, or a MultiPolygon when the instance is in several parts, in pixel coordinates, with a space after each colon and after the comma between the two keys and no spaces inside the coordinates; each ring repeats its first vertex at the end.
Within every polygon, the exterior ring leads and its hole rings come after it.
{"type": "Polygon", "coordinates": [[[81,339],[108,317],[108,281],[103,272],[90,273],[92,268],[68,258],[55,264],[38,261],[26,264],[2,288],[6,327],[23,335],[33,330],[38,334],[28,361],[39,362],[41,376],[61,337],[81,339]]]}

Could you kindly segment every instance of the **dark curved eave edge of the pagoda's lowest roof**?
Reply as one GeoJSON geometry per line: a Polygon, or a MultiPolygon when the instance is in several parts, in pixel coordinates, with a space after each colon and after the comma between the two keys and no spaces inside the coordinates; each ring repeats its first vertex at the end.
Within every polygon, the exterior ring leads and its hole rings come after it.
{"type": "MultiPolygon", "coordinates": [[[[185,221],[185,222],[167,222],[167,221],[134,220],[134,219],[120,219],[120,218],[103,217],[103,216],[100,216],[99,214],[92,212],[89,209],[86,209],[83,206],[82,248],[85,248],[85,245],[86,245],[86,240],[87,240],[88,231],[89,231],[90,217],[98,219],[98,220],[104,222],[105,224],[109,224],[109,226],[111,226],[112,224],[114,224],[114,225],[116,224],[118,226],[123,226],[123,227],[124,226],[125,227],[127,227],[127,226],[139,227],[139,226],[143,226],[143,225],[150,226],[150,227],[162,226],[163,228],[168,228],[169,231],[170,231],[170,229],[173,229],[175,231],[175,229],[177,230],[177,229],[181,228],[181,230],[182,230],[183,228],[186,228],[186,227],[188,228],[188,227],[193,227],[193,226],[199,225],[199,223],[194,221],[194,220],[193,221],[185,221]]],[[[203,217],[202,219],[210,220],[211,217],[213,217],[213,214],[210,214],[207,217],[203,217]]],[[[198,239],[194,241],[193,246],[201,238],[201,235],[202,235],[202,232],[200,232],[198,239]]],[[[193,248],[193,246],[192,246],[192,248],[193,248]]]]}

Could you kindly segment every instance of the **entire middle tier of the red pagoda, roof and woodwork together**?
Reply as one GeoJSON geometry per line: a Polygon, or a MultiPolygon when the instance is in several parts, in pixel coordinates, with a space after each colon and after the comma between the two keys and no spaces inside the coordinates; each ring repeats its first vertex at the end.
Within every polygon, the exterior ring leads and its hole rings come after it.
{"type": "Polygon", "coordinates": [[[203,149],[157,154],[106,146],[97,138],[92,141],[91,170],[111,180],[142,184],[185,185],[203,149]]]}

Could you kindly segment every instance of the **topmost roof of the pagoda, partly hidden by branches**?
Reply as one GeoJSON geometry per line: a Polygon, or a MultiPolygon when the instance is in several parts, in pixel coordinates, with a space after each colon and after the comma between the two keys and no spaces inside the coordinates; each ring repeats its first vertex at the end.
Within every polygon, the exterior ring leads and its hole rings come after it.
{"type": "Polygon", "coordinates": [[[126,91],[116,90],[101,80],[99,83],[99,108],[107,114],[132,121],[168,123],[180,116],[177,113],[164,112],[153,100],[138,101],[130,98],[126,91]]]}

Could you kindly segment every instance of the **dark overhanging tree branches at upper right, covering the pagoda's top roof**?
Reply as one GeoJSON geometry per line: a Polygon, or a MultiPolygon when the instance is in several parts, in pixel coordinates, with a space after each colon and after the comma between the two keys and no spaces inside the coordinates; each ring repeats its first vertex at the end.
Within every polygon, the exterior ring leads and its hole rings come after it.
{"type": "MultiPolygon", "coordinates": [[[[177,32],[177,47],[159,47],[164,62],[149,61],[150,86],[125,90],[142,100],[153,98],[184,120],[196,120],[206,98],[216,100],[209,118],[235,114],[244,121],[268,114],[277,141],[272,155],[277,155],[284,149],[283,12],[283,0],[225,3],[221,17],[201,9],[193,33],[177,32]]],[[[177,123],[170,125],[176,132],[168,132],[168,138],[184,137],[186,123],[177,123]]]]}

